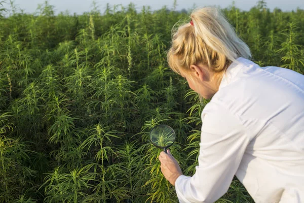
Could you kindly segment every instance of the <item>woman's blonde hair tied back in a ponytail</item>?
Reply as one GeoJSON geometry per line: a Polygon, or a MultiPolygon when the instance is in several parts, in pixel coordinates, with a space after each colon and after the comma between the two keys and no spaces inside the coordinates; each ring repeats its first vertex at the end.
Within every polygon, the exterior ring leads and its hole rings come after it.
{"type": "Polygon", "coordinates": [[[192,12],[191,23],[172,29],[172,46],[167,59],[180,74],[192,64],[203,63],[214,73],[222,73],[238,57],[251,58],[249,47],[238,38],[233,26],[219,9],[205,7],[192,12]]]}

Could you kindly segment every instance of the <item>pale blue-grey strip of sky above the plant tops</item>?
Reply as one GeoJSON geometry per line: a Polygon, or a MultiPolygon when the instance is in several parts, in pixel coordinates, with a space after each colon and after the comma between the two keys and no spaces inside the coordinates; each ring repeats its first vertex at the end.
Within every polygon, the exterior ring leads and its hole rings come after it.
{"type": "MultiPolygon", "coordinates": [[[[9,0],[4,0],[9,2],[9,0]]],[[[25,13],[33,13],[39,4],[43,4],[45,0],[13,0],[18,8],[24,10],[25,13]]],[[[172,8],[174,0],[95,0],[99,10],[103,13],[105,6],[109,3],[111,6],[122,4],[127,6],[130,2],[135,4],[136,8],[140,10],[142,6],[150,6],[151,10],[161,9],[163,6],[172,8]]],[[[1,2],[1,1],[0,1],[1,2]]],[[[61,11],[68,10],[69,13],[82,14],[89,12],[92,9],[93,0],[49,0],[50,5],[54,6],[55,14],[61,11]]],[[[177,0],[177,10],[193,8],[194,4],[198,7],[203,6],[220,6],[226,8],[232,5],[233,0],[177,0]]],[[[257,0],[235,0],[235,5],[243,11],[248,11],[256,5],[257,0]]],[[[304,9],[304,0],[266,0],[267,7],[271,10],[279,8],[282,11],[292,11],[297,8],[304,9]]],[[[4,5],[5,8],[10,8],[9,4],[4,5]]]]}

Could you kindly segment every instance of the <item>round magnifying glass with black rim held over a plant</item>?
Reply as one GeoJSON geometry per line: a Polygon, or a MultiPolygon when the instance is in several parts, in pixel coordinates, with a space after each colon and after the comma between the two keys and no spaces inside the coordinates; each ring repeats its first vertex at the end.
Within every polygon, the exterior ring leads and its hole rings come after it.
{"type": "Polygon", "coordinates": [[[167,148],[173,145],[175,141],[175,132],[169,125],[157,125],[150,131],[151,143],[167,153],[167,148]]]}

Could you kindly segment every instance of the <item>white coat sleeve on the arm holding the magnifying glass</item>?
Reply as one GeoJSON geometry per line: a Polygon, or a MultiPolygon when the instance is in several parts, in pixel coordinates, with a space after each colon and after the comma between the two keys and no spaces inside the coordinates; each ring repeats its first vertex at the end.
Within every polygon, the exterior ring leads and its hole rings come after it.
{"type": "Polygon", "coordinates": [[[175,182],[179,202],[214,202],[232,182],[249,144],[241,120],[223,105],[208,104],[202,113],[196,173],[175,182]]]}

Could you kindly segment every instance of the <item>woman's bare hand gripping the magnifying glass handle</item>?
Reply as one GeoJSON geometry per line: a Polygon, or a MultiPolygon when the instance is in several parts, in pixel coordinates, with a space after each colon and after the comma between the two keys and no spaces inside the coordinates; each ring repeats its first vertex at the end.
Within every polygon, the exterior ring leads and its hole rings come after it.
{"type": "Polygon", "coordinates": [[[176,179],[182,175],[179,164],[170,153],[170,150],[161,152],[159,160],[161,161],[161,171],[164,177],[172,184],[175,185],[176,179]]]}

